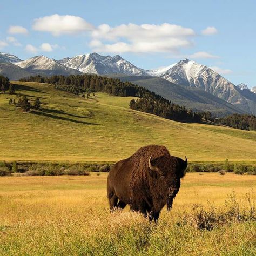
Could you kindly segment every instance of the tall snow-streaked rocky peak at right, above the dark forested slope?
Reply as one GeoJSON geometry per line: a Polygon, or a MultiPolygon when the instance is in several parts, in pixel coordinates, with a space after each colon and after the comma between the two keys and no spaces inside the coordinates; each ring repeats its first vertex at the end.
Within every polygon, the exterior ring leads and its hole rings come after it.
{"type": "Polygon", "coordinates": [[[174,84],[196,87],[239,107],[241,110],[256,114],[256,95],[254,97],[254,95],[242,93],[243,90],[205,65],[184,59],[172,65],[165,72],[159,70],[152,72],[158,73],[159,77],[174,84]]]}

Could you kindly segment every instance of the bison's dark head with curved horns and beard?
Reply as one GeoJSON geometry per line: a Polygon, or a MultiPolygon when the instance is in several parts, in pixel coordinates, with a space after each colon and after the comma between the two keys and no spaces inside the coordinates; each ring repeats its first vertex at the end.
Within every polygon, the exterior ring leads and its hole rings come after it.
{"type": "Polygon", "coordinates": [[[149,158],[149,174],[154,179],[154,184],[166,200],[167,211],[172,208],[174,197],[179,192],[180,179],[184,177],[187,167],[187,158],[185,161],[179,157],[160,156],[149,158]]]}

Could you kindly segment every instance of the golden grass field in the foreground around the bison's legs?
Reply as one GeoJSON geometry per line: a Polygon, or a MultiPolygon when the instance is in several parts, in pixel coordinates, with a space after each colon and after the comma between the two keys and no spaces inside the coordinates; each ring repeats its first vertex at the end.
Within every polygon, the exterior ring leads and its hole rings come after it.
{"type": "MultiPolygon", "coordinates": [[[[0,255],[255,255],[255,221],[211,231],[178,225],[194,204],[246,203],[256,176],[187,173],[170,213],[159,223],[141,214],[109,212],[107,173],[97,176],[0,177],[0,255]]],[[[255,195],[254,198],[255,204],[255,195]]]]}

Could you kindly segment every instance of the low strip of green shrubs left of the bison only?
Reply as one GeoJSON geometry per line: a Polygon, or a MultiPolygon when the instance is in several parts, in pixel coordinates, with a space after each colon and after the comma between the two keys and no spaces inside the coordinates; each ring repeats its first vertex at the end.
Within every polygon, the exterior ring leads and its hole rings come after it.
{"type": "Polygon", "coordinates": [[[6,163],[0,162],[0,176],[21,173],[23,176],[90,175],[90,172],[109,172],[112,164],[85,163],[6,163]]]}

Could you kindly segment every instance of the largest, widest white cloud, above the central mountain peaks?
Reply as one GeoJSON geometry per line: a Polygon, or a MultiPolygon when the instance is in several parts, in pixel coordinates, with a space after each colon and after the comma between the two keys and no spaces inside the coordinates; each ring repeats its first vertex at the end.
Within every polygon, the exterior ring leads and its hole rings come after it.
{"type": "Polygon", "coordinates": [[[172,52],[193,45],[196,33],[190,28],[163,23],[122,24],[111,28],[107,24],[92,31],[90,46],[99,52],[172,52]]]}

